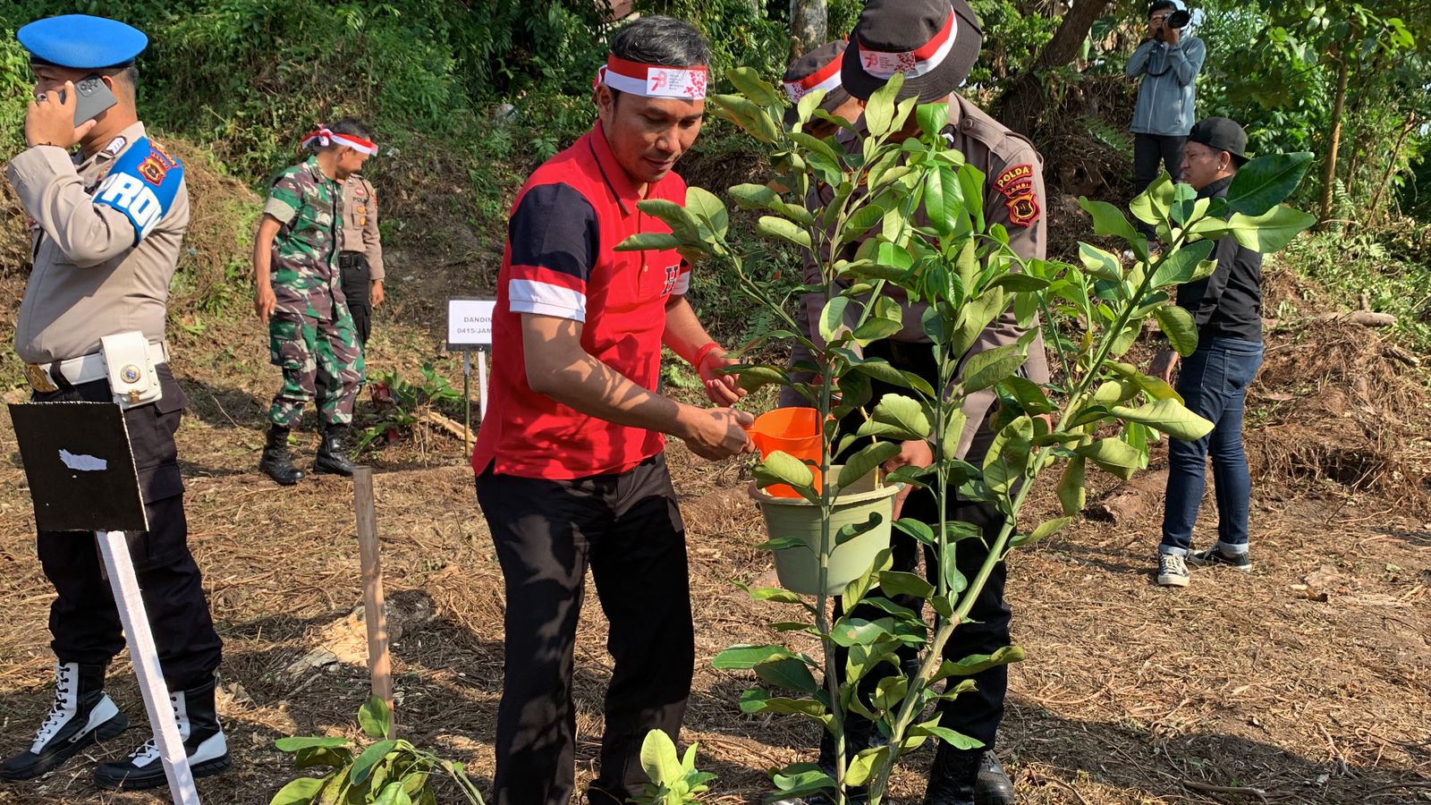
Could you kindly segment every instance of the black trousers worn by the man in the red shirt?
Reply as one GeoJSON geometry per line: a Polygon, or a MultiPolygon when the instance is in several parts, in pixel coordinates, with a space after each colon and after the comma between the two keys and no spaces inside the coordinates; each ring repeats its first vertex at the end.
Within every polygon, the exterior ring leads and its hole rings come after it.
{"type": "Polygon", "coordinates": [[[507,589],[505,673],[497,715],[495,805],[565,805],[575,785],[572,649],[587,567],[615,660],[605,699],[595,804],[641,792],[641,742],[677,739],[695,637],[685,530],[664,455],[571,481],[477,478],[507,589]]]}

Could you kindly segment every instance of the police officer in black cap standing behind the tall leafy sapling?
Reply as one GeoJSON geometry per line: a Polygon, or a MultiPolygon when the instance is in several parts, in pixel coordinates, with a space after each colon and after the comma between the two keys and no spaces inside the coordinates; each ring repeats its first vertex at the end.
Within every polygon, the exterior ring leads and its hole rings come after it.
{"type": "MultiPolygon", "coordinates": [[[[850,44],[841,62],[843,87],[861,103],[896,73],[904,74],[899,100],[919,97],[920,103],[943,103],[949,107],[949,123],[943,130],[944,140],[963,152],[970,165],[987,176],[985,185],[985,215],[992,226],[1000,223],[1009,232],[1009,245],[1025,259],[1045,256],[1046,222],[1043,208],[1043,159],[1023,136],[1009,130],[997,120],[976,107],[956,90],[969,76],[983,32],[979,19],[964,0],[870,0],[860,21],[850,36],[850,44]]],[[[904,132],[896,136],[913,136],[917,122],[913,116],[904,132]]],[[[854,143],[857,146],[857,143],[854,143]]],[[[830,191],[823,189],[824,193],[830,191]]],[[[826,196],[823,201],[829,201],[826,196]]],[[[923,211],[920,216],[923,216],[923,211]]],[[[873,235],[870,232],[869,235],[873,235]]],[[[849,246],[850,252],[859,242],[849,246]]],[[[819,282],[819,266],[807,262],[807,282],[819,282]]],[[[924,305],[909,302],[899,289],[886,289],[886,295],[899,299],[904,308],[904,321],[912,322],[887,341],[877,341],[864,350],[866,355],[880,357],[894,367],[912,371],[937,384],[937,367],[929,350],[929,338],[919,327],[924,305]]],[[[819,332],[817,321],[824,305],[820,295],[804,298],[801,324],[807,332],[819,332]]],[[[854,308],[856,305],[851,305],[854,308]]],[[[854,327],[854,322],[850,322],[854,327]]],[[[967,357],[1015,344],[1025,335],[1012,311],[995,319],[986,328],[967,357]]],[[[1027,361],[1022,370],[1035,382],[1047,381],[1047,360],[1042,338],[1029,348],[1027,361]]],[[[903,390],[874,382],[874,398],[903,390]]],[[[784,401],[784,400],[783,400],[784,401]]],[[[957,455],[980,464],[993,441],[989,417],[995,403],[992,391],[980,391],[964,403],[969,417],[957,447],[957,455]]],[[[847,433],[853,433],[846,428],[847,433]]],[[[850,447],[856,450],[860,445],[850,447]]],[[[886,464],[893,470],[903,464],[927,466],[933,461],[929,443],[910,441],[902,454],[886,464]]],[[[949,490],[953,494],[954,490],[949,490]]],[[[903,503],[903,514],[923,521],[937,521],[934,497],[927,490],[913,491],[903,503]]],[[[952,498],[950,520],[963,520],[983,530],[986,541],[992,543],[1003,524],[1003,516],[987,503],[952,498]]],[[[919,544],[906,536],[896,534],[892,543],[896,570],[913,572],[919,564],[919,544]]],[[[962,543],[957,564],[962,573],[973,577],[987,557],[987,550],[979,540],[962,543]]],[[[1003,600],[1006,569],[995,567],[983,592],[969,613],[970,622],[954,630],[944,647],[944,656],[953,660],[969,655],[987,655],[1009,645],[1010,610],[1003,600]]],[[[919,606],[919,599],[892,596],[903,606],[919,606]]],[[[841,652],[843,656],[843,652],[841,652]]],[[[907,657],[913,660],[914,657],[907,657]]],[[[843,662],[843,660],[841,660],[843,662]]],[[[1003,718],[1003,699],[1007,688],[1007,670],[1003,666],[976,675],[977,689],[960,695],[957,702],[940,705],[942,725],[962,732],[983,743],[983,749],[962,751],[940,743],[930,769],[924,802],[929,805],[1009,805],[1013,799],[1013,785],[993,753],[999,722],[1003,718]]],[[[851,716],[846,722],[847,746],[851,753],[877,742],[880,738],[867,720],[851,716]]],[[[826,735],[821,745],[821,765],[833,765],[833,745],[826,735]]]]}

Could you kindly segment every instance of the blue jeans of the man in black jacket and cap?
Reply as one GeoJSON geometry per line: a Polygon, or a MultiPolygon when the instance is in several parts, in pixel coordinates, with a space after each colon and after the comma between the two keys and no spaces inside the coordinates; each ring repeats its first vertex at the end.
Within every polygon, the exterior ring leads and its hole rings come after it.
{"type": "Polygon", "coordinates": [[[1178,394],[1193,413],[1212,421],[1212,433],[1195,440],[1168,440],[1168,504],[1159,553],[1186,554],[1206,487],[1206,461],[1212,455],[1212,481],[1218,496],[1218,547],[1234,556],[1248,550],[1248,503],[1252,478],[1242,450],[1242,408],[1246,388],[1262,365],[1262,344],[1239,338],[1208,339],[1182,361],[1178,394]]]}

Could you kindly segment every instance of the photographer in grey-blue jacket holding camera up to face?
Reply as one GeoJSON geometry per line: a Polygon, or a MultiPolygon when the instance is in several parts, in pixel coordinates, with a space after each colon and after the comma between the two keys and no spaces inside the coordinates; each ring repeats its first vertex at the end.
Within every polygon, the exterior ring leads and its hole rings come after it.
{"type": "MultiPolygon", "coordinates": [[[[1128,77],[1143,76],[1133,109],[1133,173],[1139,192],[1158,178],[1159,163],[1172,180],[1181,175],[1182,146],[1196,120],[1193,82],[1208,49],[1201,39],[1183,36],[1192,16],[1173,0],[1148,6],[1148,36],[1128,59],[1128,77]]],[[[1153,239],[1151,228],[1145,228],[1153,239]]]]}

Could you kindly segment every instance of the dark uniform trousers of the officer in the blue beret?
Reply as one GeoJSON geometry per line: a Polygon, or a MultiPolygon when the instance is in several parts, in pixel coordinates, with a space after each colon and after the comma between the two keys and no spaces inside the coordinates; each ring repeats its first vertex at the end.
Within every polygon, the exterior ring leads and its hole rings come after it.
{"type": "MultiPolygon", "coordinates": [[[[189,553],[189,523],[183,510],[175,431],[187,398],[167,364],[157,367],[163,397],[124,411],[149,530],[127,533],[129,551],[149,625],[170,690],[187,690],[213,679],[222,640],[213,630],[199,566],[189,553]]],[[[109,381],[70,385],[56,378],[59,391],[34,394],[36,403],[110,403],[109,381]]],[[[57,597],[50,604],[50,647],[63,662],[107,665],[124,637],[119,609],[100,569],[103,560],[90,531],[40,531],[37,553],[57,597]]]]}

